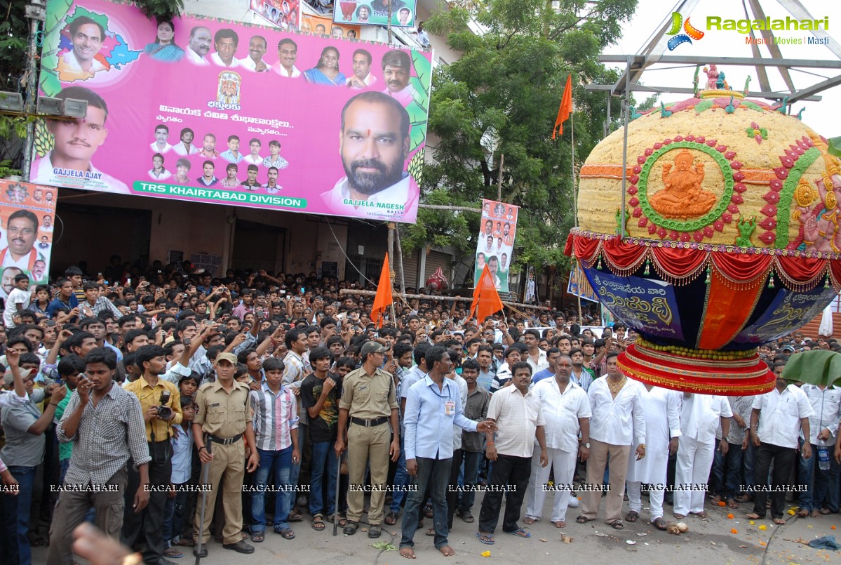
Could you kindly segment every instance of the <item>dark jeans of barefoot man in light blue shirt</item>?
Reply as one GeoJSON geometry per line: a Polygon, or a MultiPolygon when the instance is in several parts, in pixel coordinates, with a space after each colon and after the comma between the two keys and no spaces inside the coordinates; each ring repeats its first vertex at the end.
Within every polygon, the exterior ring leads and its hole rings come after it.
{"type": "Polygon", "coordinates": [[[435,547],[441,549],[447,545],[447,485],[450,482],[450,464],[452,459],[428,459],[417,457],[418,472],[412,477],[411,483],[417,489],[409,493],[406,498],[406,508],[403,513],[403,537],[400,547],[414,547],[415,530],[418,527],[418,511],[424,503],[424,493],[427,488],[432,497],[432,513],[435,526],[435,547]]]}

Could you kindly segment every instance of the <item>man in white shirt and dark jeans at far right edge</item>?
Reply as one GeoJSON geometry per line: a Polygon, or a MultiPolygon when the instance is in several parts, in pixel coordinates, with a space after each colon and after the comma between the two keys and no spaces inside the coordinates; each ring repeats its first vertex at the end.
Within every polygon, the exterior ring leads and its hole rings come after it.
{"type": "Polygon", "coordinates": [[[841,389],[806,384],[800,390],[806,393],[814,415],[809,418],[810,436],[806,438],[802,432],[800,435],[801,445],[806,440],[812,444],[812,457],[800,458],[800,484],[806,485],[807,491],[800,493],[797,515],[806,518],[811,510],[812,518],[819,518],[821,514],[838,512],[838,463],[833,456],[833,448],[838,437],[838,419],[841,418],[841,389]],[[828,446],[828,469],[815,468],[817,450],[822,445],[828,446]]]}

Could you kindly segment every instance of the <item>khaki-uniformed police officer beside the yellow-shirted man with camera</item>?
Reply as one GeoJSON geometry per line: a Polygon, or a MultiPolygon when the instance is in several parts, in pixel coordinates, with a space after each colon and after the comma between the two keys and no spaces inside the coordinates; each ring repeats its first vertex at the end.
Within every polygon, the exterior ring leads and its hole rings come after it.
{"type": "MultiPolygon", "coordinates": [[[[240,553],[253,553],[254,546],[242,541],[242,479],[245,469],[252,472],[259,464],[257,450],[254,448],[254,429],[251,428],[251,407],[248,402],[249,387],[234,380],[236,356],[232,353],[220,353],[214,363],[216,381],[209,382],[196,393],[197,412],[193,418],[193,439],[198,448],[198,458],[202,463],[210,464],[208,483],[211,490],[207,493],[207,509],[204,512],[204,527],[199,523],[201,508],[196,509],[194,520],[195,537],[202,536],[200,557],[207,555],[207,542],[210,538],[210,522],[213,520],[216,493],[222,476],[225,476],[225,489],[222,491],[222,504],[225,509],[225,529],[222,530],[223,547],[240,553]],[[251,447],[251,455],[246,461],[246,445],[243,435],[251,447]],[[210,450],[208,450],[208,444],[210,450]]],[[[195,551],[195,550],[193,550],[195,551]]]]}

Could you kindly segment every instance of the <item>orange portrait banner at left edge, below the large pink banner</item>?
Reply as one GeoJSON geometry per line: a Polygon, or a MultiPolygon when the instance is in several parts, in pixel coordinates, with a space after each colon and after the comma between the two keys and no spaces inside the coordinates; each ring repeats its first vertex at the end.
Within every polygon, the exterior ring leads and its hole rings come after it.
{"type": "Polygon", "coordinates": [[[4,300],[17,275],[29,275],[29,290],[47,282],[55,219],[56,189],[0,180],[0,296],[4,300]]]}

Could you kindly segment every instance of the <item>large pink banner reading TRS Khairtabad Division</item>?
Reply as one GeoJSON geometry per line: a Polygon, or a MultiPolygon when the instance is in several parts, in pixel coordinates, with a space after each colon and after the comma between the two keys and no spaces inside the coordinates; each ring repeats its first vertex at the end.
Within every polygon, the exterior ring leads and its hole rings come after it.
{"type": "Polygon", "coordinates": [[[50,0],[41,68],[34,183],[415,221],[429,52],[50,0]]]}

